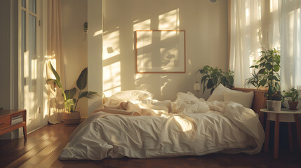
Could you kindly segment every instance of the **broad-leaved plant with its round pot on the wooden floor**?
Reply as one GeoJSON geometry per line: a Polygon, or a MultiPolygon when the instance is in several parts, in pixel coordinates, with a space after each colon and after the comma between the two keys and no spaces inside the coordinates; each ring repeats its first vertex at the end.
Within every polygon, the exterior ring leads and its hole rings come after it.
{"type": "Polygon", "coordinates": [[[67,125],[74,125],[78,124],[81,115],[79,111],[76,111],[77,104],[79,102],[79,99],[86,97],[86,98],[92,98],[95,95],[98,95],[96,92],[91,91],[84,91],[87,85],[87,77],[88,77],[88,68],[83,69],[81,71],[81,74],[79,75],[79,78],[76,80],[76,86],[79,89],[79,94],[76,98],[74,98],[76,94],[76,87],[72,88],[71,90],[64,90],[62,87],[62,84],[60,83],[60,76],[57,71],[53,68],[51,62],[48,62],[48,67],[53,72],[53,75],[55,76],[55,79],[50,78],[48,80],[53,80],[54,83],[60,87],[62,90],[62,96],[64,97],[65,101],[65,112],[62,114],[62,120],[67,125]]]}

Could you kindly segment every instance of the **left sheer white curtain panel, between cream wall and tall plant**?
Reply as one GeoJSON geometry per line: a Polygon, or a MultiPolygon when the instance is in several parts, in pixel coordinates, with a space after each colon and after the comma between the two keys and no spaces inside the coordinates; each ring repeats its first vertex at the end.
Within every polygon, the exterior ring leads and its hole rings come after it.
{"type": "Polygon", "coordinates": [[[231,0],[230,5],[229,69],[234,71],[234,85],[243,87],[251,73],[249,67],[262,49],[262,1],[231,0]]]}

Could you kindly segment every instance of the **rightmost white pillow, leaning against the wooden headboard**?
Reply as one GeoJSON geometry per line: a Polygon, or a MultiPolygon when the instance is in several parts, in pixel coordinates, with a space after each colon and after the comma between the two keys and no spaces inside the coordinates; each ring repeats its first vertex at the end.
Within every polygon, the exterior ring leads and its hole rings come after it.
{"type": "Polygon", "coordinates": [[[254,92],[224,92],[225,102],[236,102],[246,108],[251,108],[253,104],[254,92]]]}

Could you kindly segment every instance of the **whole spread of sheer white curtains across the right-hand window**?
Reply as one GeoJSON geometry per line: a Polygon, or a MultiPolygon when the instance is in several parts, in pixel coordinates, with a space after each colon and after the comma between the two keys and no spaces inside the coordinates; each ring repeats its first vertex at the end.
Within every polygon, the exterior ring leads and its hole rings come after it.
{"type": "Polygon", "coordinates": [[[281,48],[281,90],[301,89],[300,0],[231,0],[229,69],[243,87],[260,50],[281,48]]]}

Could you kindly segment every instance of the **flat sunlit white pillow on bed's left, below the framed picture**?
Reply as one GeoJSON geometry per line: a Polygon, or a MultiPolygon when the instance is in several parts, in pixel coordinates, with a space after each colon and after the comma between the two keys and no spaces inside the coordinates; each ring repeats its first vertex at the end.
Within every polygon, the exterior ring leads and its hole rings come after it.
{"type": "Polygon", "coordinates": [[[114,93],[109,100],[114,101],[139,101],[145,99],[152,99],[152,94],[144,90],[125,90],[114,93]]]}

